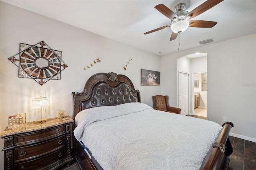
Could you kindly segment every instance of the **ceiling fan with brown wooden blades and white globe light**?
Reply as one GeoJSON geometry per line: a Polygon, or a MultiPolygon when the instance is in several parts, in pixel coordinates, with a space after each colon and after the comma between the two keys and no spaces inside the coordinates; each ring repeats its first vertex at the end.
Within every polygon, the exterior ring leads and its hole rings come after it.
{"type": "Polygon", "coordinates": [[[203,12],[209,10],[210,8],[216,6],[223,0],[207,0],[206,2],[202,3],[200,6],[196,7],[191,12],[185,11],[185,4],[181,3],[175,6],[176,13],[172,12],[168,7],[164,4],[159,4],[155,6],[155,8],[161,12],[164,16],[172,20],[172,23],[163,26],[149,32],[145,32],[144,34],[150,34],[152,32],[156,32],[162,30],[164,28],[170,27],[172,30],[172,35],[170,41],[175,40],[181,32],[184,32],[188,27],[198,27],[198,28],[212,28],[217,24],[217,22],[213,21],[203,21],[203,20],[192,20],[188,21],[195,16],[202,14],[203,12]]]}

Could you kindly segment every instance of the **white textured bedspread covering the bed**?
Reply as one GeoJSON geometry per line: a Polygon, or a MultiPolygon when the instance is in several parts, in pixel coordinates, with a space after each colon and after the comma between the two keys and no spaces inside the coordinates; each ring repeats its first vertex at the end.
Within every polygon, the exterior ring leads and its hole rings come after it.
{"type": "Polygon", "coordinates": [[[222,129],[143,103],[86,109],[75,123],[75,137],[104,170],[198,170],[222,129]]]}

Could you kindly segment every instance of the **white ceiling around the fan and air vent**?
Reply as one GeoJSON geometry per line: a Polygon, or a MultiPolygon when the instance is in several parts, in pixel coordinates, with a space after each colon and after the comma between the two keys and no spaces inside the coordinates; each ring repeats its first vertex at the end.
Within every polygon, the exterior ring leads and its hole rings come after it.
{"type": "MultiPolygon", "coordinates": [[[[2,0],[3,2],[65,22],[78,28],[122,42],[156,55],[178,51],[178,37],[170,41],[166,28],[151,34],[144,32],[166,26],[170,19],[154,6],[185,3],[188,12],[205,0],[2,0]]],[[[189,27],[180,34],[179,51],[202,46],[199,41],[212,38],[222,42],[256,33],[256,0],[224,0],[191,20],[218,22],[213,28],[189,27]]],[[[207,44],[206,44],[207,45],[207,44]]]]}

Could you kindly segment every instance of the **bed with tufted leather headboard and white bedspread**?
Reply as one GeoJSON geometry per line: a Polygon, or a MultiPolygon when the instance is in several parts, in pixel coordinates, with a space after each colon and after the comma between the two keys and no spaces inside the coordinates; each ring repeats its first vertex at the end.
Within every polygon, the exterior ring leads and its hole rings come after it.
{"type": "Polygon", "coordinates": [[[96,73],[72,92],[80,169],[227,169],[234,126],[157,111],[125,75],[96,73]],[[199,128],[200,127],[200,128],[199,128]]]}

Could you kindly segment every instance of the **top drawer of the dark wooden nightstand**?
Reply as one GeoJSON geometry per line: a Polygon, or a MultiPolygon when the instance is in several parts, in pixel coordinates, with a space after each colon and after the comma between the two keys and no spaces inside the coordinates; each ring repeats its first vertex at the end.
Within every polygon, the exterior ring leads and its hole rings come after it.
{"type": "Polygon", "coordinates": [[[36,141],[40,141],[46,137],[50,137],[52,135],[57,135],[57,134],[64,133],[64,132],[65,132],[65,127],[61,126],[61,127],[54,128],[51,130],[42,131],[40,133],[36,132],[36,133],[30,133],[30,134],[21,135],[21,136],[15,136],[14,144],[23,144],[26,142],[36,142],[36,141]]]}

